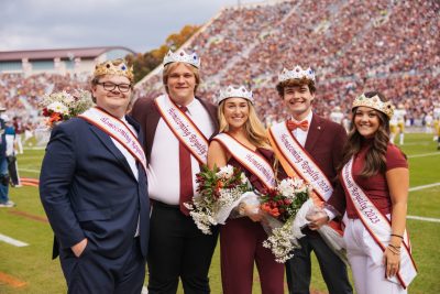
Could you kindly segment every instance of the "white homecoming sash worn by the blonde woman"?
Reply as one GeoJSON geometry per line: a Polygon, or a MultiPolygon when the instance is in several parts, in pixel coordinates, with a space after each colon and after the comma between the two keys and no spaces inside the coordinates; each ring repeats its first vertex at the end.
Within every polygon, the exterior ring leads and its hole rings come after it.
{"type": "Polygon", "coordinates": [[[274,188],[276,186],[274,171],[262,155],[250,150],[227,133],[219,133],[212,140],[219,141],[240,164],[256,175],[266,187],[274,188]]]}

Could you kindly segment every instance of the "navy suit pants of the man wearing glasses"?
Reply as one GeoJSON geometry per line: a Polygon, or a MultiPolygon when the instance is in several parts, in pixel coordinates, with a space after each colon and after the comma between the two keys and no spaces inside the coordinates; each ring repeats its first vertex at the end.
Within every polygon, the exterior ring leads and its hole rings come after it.
{"type": "Polygon", "coordinates": [[[139,238],[122,257],[107,258],[89,241],[79,258],[70,249],[59,250],[69,294],[139,294],[145,280],[145,259],[139,238]]]}

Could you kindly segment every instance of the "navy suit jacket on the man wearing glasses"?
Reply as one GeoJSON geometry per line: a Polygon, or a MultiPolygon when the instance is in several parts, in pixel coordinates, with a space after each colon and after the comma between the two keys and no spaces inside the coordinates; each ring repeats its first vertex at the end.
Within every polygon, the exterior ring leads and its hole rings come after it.
{"type": "Polygon", "coordinates": [[[74,118],[54,128],[40,176],[40,197],[55,232],[54,258],[85,237],[94,251],[118,258],[131,249],[139,217],[146,257],[150,202],[146,175],[140,164],[138,170],[139,181],[110,137],[94,124],[74,118]]]}

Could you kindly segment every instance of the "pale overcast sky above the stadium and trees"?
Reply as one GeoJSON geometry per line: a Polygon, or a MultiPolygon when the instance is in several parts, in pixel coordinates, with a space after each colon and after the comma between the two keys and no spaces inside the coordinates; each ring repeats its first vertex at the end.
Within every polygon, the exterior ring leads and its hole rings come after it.
{"type": "Polygon", "coordinates": [[[263,0],[0,0],[0,51],[127,46],[146,52],[222,7],[263,0]]]}

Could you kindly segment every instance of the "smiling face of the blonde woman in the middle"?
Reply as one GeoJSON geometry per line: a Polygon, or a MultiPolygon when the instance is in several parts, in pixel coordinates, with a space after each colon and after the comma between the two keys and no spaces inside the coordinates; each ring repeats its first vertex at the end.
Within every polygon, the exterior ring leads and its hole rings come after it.
{"type": "Polygon", "coordinates": [[[233,131],[242,128],[249,119],[249,104],[243,98],[228,98],[223,102],[224,119],[229,124],[229,130],[233,131]]]}

